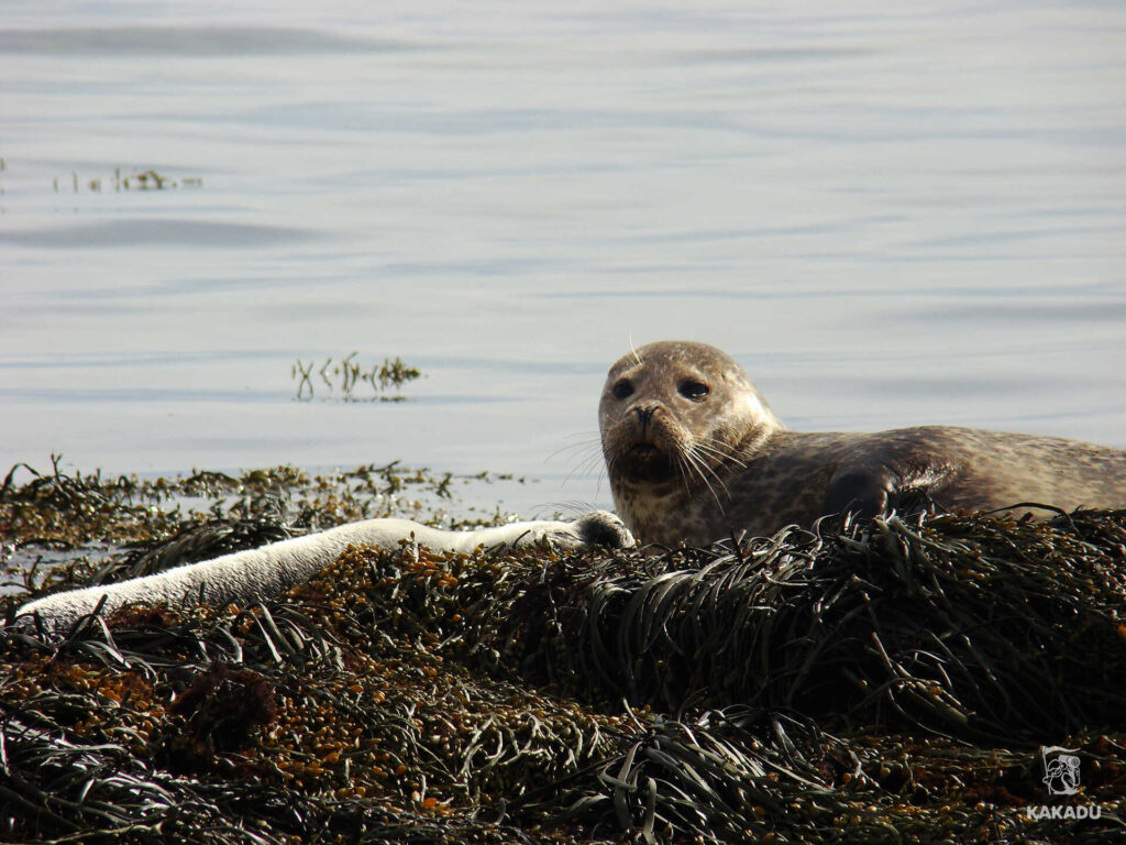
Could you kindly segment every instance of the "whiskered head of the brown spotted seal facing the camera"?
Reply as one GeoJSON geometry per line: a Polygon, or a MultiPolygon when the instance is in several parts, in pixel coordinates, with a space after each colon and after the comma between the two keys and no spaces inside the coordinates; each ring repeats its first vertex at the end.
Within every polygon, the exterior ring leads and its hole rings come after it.
{"type": "Polygon", "coordinates": [[[718,497],[727,469],[783,428],[739,364],[687,340],[647,344],[615,363],[598,419],[627,525],[653,497],[718,497]]]}

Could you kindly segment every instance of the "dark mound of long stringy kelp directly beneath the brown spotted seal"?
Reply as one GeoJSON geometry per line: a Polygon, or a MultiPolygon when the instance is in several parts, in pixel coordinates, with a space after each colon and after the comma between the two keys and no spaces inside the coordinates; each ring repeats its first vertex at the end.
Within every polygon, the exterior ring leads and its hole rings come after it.
{"type": "Polygon", "coordinates": [[[1120,515],[893,516],[602,564],[563,602],[564,665],[663,710],[698,695],[998,741],[1115,724],[1124,541],[1120,515]]]}

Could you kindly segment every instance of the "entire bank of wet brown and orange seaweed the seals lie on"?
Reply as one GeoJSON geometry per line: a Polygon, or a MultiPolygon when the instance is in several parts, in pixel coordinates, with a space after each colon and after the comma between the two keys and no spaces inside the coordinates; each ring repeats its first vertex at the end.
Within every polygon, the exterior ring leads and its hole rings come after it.
{"type": "MultiPolygon", "coordinates": [[[[48,495],[91,498],[9,486],[2,524],[48,495]]],[[[148,531],[131,513],[102,536],[148,531]]],[[[231,527],[169,518],[132,554],[231,527]]],[[[8,630],[0,839],[1117,842],[1124,572],[1123,513],[931,516],[614,558],[352,550],[253,607],[8,630]],[[1079,794],[1047,794],[1040,745],[1080,749],[1079,794]]]]}

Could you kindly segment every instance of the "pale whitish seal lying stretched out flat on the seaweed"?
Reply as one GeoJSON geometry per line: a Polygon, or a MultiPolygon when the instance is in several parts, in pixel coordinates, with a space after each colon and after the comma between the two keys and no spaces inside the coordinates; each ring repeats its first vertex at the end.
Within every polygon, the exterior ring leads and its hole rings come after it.
{"type": "Polygon", "coordinates": [[[48,632],[60,632],[97,608],[109,614],[136,603],[184,607],[260,602],[309,580],[350,545],[394,551],[403,544],[465,553],[540,544],[584,551],[598,545],[628,549],[634,539],[618,517],[605,510],[592,510],[573,522],[511,523],[476,531],[441,531],[409,519],[366,519],[120,584],[55,593],[23,605],[16,621],[30,625],[38,617],[48,632]]]}

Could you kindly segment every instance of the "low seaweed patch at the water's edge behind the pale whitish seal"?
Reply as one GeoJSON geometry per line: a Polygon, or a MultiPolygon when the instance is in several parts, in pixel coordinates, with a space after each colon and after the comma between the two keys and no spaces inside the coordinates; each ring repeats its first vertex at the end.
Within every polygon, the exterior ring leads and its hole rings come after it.
{"type": "Polygon", "coordinates": [[[511,477],[438,474],[397,461],[316,475],[276,466],[144,479],[71,474],[61,455],[51,460],[48,472],[19,463],[0,482],[5,592],[133,578],[359,519],[425,515],[467,528],[510,518],[474,513],[455,487],[511,477]],[[17,483],[23,475],[30,479],[17,483]]]}

